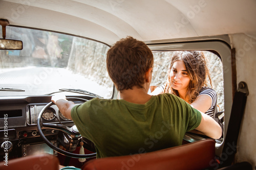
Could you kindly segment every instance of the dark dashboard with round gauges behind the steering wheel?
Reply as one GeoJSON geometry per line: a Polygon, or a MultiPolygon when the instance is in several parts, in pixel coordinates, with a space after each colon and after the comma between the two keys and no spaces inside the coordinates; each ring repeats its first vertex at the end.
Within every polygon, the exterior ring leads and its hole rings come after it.
{"type": "MultiPolygon", "coordinates": [[[[77,97],[77,96],[71,96],[77,97]]],[[[79,96],[90,100],[90,96],[79,96]]],[[[51,102],[51,96],[1,96],[0,97],[0,161],[8,152],[8,158],[24,157],[47,152],[57,156],[40,137],[36,122],[40,111],[51,102]]],[[[81,102],[75,102],[81,104],[81,102]]],[[[56,105],[42,115],[42,123],[74,125],[64,117],[56,105]]],[[[58,145],[59,130],[42,128],[42,132],[54,145],[58,145]]]]}

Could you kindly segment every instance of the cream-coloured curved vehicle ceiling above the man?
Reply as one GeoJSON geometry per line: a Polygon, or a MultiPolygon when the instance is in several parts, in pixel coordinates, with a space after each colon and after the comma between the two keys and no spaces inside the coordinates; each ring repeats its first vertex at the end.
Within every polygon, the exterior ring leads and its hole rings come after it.
{"type": "Polygon", "coordinates": [[[255,38],[255,9],[255,0],[2,0],[0,18],[111,45],[128,35],[143,41],[235,33],[255,38]]]}

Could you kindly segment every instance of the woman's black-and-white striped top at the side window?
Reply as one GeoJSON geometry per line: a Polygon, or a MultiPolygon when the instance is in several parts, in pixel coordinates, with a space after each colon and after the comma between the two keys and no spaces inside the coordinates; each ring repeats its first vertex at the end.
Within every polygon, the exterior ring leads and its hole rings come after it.
{"type": "MultiPolygon", "coordinates": [[[[205,88],[205,87],[203,87],[205,88]]],[[[217,103],[217,93],[214,89],[212,88],[207,88],[205,90],[203,90],[203,88],[200,90],[201,92],[199,93],[199,95],[202,95],[202,94],[206,94],[208,95],[210,98],[211,98],[211,105],[210,105],[210,108],[205,112],[205,114],[213,117],[214,116],[214,106],[216,105],[217,103]],[[203,91],[202,91],[203,90],[203,91]]],[[[198,95],[198,96],[199,96],[198,95]]]]}

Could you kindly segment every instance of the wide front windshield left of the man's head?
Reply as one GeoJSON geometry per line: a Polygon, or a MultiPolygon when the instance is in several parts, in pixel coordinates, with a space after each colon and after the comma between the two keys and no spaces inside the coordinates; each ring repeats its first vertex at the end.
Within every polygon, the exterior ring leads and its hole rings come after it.
{"type": "Polygon", "coordinates": [[[0,51],[0,96],[81,89],[111,98],[113,82],[105,63],[109,46],[66,34],[18,27],[7,27],[6,38],[22,40],[23,50],[0,51]]]}

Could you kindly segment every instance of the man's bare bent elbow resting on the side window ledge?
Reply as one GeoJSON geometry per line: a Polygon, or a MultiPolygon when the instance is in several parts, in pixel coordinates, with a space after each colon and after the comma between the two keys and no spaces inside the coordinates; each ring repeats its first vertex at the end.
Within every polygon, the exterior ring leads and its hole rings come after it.
{"type": "Polygon", "coordinates": [[[207,114],[200,112],[202,115],[201,123],[196,130],[202,132],[204,135],[214,139],[219,139],[222,135],[220,125],[207,114]]]}

